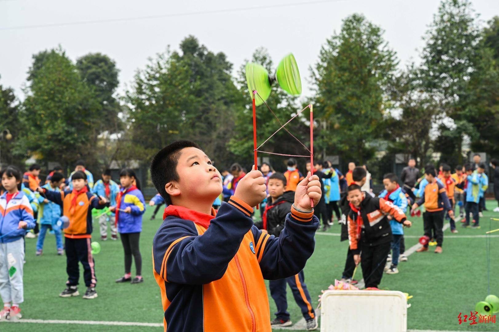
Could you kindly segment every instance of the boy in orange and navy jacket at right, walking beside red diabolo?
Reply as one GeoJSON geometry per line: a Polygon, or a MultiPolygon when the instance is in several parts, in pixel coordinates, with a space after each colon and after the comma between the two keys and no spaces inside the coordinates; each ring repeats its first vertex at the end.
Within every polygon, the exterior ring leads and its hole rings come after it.
{"type": "MultiPolygon", "coordinates": [[[[446,188],[437,181],[437,170],[433,167],[427,167],[425,169],[425,179],[428,181],[428,184],[425,187],[424,195],[419,201],[413,204],[412,209],[415,210],[418,206],[425,204],[426,212],[423,214],[425,235],[430,239],[435,237],[437,240],[435,254],[441,254],[444,242],[443,227],[445,211],[449,212],[451,219],[454,219],[454,211],[447,197],[446,188]]],[[[428,244],[416,250],[418,253],[424,251],[428,251],[428,244]]]]}

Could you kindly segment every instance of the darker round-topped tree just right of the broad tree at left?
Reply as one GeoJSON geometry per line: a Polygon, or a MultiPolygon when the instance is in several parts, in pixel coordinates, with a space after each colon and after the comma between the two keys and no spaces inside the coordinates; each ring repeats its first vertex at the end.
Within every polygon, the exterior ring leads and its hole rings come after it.
{"type": "Polygon", "coordinates": [[[113,96],[118,87],[116,62],[102,53],[88,53],[76,60],[76,67],[83,81],[94,89],[102,107],[101,131],[118,132],[121,122],[118,118],[120,105],[113,96]]]}

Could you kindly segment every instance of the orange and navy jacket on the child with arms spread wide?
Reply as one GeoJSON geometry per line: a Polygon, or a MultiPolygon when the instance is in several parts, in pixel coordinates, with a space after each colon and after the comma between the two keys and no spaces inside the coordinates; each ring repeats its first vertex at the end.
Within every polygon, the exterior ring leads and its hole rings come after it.
{"type": "Polygon", "coordinates": [[[69,226],[64,229],[64,237],[69,239],[85,239],[92,237],[92,209],[103,209],[109,206],[109,203],[104,205],[99,204],[97,196],[90,192],[80,193],[76,197],[76,207],[71,214],[71,201],[73,200],[73,192],[71,190],[50,191],[45,190],[45,197],[62,208],[63,215],[68,217],[69,226]]]}

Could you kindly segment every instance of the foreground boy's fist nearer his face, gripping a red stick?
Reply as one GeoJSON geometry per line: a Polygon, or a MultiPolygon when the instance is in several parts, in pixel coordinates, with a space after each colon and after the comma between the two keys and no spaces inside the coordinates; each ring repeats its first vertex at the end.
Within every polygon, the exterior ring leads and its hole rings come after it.
{"type": "Polygon", "coordinates": [[[265,179],[253,165],[253,170],[239,181],[234,196],[253,207],[267,196],[266,188],[265,179]]]}

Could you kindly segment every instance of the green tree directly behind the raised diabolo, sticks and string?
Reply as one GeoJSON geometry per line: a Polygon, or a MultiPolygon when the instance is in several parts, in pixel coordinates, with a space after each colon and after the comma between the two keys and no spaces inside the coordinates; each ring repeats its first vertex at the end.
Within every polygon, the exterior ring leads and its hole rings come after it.
{"type": "MultiPolygon", "coordinates": [[[[251,62],[261,64],[270,74],[275,73],[272,59],[265,48],[256,49],[251,62]]],[[[253,161],[253,110],[251,103],[251,93],[248,90],[246,82],[246,64],[243,64],[238,73],[238,85],[240,94],[244,98],[244,105],[237,109],[236,127],[238,130],[230,139],[228,148],[238,156],[238,161],[251,165],[253,161]]],[[[279,121],[286,123],[297,111],[300,105],[297,103],[297,97],[287,94],[277,83],[272,85],[270,96],[266,100],[270,109],[274,112],[279,121]]],[[[308,110],[304,111],[307,115],[308,110]]],[[[302,114],[303,114],[302,113],[302,114]]],[[[300,116],[289,122],[284,128],[289,130],[297,139],[303,142],[309,148],[308,124],[304,121],[305,117],[300,116]]],[[[265,104],[256,107],[256,134],[258,146],[270,137],[280,128],[279,122],[275,119],[272,112],[265,104]]],[[[296,141],[284,129],[272,136],[262,147],[262,151],[268,151],[281,154],[307,155],[309,152],[298,141],[296,141]]],[[[259,153],[260,157],[269,157],[268,154],[259,153]]],[[[281,157],[272,157],[271,160],[276,163],[282,162],[281,157]]],[[[275,163],[274,163],[275,164],[275,163]]],[[[279,169],[279,168],[278,168],[279,169]]]]}

